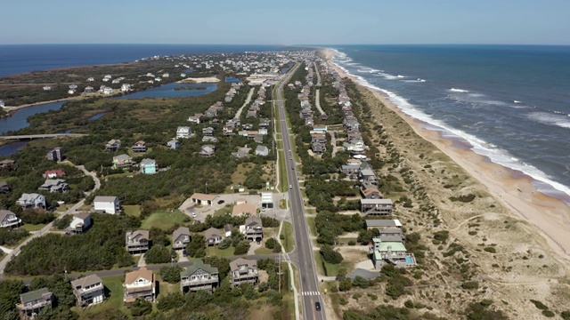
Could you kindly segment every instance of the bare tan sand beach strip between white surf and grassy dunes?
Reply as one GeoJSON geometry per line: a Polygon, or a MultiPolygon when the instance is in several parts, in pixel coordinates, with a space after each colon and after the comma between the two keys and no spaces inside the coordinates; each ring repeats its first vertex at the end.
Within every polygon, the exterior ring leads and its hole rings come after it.
{"type": "Polygon", "coordinates": [[[533,178],[524,172],[495,164],[487,156],[474,152],[471,145],[464,145],[463,141],[446,139],[442,132],[429,130],[428,123],[405,114],[384,92],[358,84],[355,76],[347,75],[345,70],[332,62],[334,56],[332,50],[323,49],[323,51],[329,65],[340,76],[350,78],[355,84],[371,92],[376,99],[409,124],[419,137],[433,144],[471,177],[483,184],[489,194],[513,216],[538,228],[550,248],[567,263],[570,257],[570,243],[566,241],[567,235],[570,234],[570,208],[564,201],[542,193],[533,185],[533,178]]]}

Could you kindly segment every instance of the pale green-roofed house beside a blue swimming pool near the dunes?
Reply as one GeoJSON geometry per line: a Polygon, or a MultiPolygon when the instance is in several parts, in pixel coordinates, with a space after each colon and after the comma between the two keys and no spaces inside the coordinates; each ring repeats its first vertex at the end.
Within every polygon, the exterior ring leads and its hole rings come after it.
{"type": "Polygon", "coordinates": [[[372,239],[372,262],[374,268],[380,269],[385,264],[398,268],[414,267],[417,265],[413,253],[408,253],[403,243],[399,241],[382,241],[379,237],[372,239]]]}

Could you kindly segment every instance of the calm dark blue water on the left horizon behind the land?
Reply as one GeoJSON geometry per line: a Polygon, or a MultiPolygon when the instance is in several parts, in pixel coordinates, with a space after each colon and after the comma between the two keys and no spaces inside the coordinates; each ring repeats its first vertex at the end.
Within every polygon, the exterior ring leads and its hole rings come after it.
{"type": "Polygon", "coordinates": [[[132,62],[156,55],[279,51],[260,44],[0,44],[0,76],[132,62]]]}

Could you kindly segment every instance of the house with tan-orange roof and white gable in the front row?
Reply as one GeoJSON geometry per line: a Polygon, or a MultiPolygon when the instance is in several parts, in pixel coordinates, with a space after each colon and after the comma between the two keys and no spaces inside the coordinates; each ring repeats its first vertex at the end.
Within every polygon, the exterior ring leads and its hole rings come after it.
{"type": "Polygon", "coordinates": [[[123,284],[123,301],[131,306],[134,300],[154,301],[157,283],[154,274],[146,267],[126,273],[123,284]]]}

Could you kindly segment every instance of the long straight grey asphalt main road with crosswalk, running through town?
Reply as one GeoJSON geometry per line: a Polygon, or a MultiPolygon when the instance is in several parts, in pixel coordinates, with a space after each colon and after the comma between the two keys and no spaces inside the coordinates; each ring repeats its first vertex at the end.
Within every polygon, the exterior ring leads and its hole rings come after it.
{"type": "Polygon", "coordinates": [[[322,301],[321,291],[319,290],[319,281],[317,279],[316,268],[314,265],[313,248],[311,246],[311,239],[309,238],[309,231],[305,220],[305,207],[303,206],[303,199],[299,184],[297,181],[297,174],[295,172],[295,160],[291,151],[291,141],[289,139],[289,127],[285,116],[285,107],[283,103],[283,86],[289,82],[290,76],[295,73],[296,68],[289,72],[289,75],[281,81],[277,87],[276,97],[277,108],[279,109],[279,116],[281,119],[281,134],[283,137],[283,148],[285,154],[285,167],[287,169],[287,178],[289,180],[289,201],[290,211],[293,220],[293,228],[295,230],[295,239],[297,244],[298,255],[298,268],[300,280],[300,292],[303,308],[303,319],[326,319],[324,313],[324,304],[322,301]],[[315,309],[315,302],[321,304],[321,310],[315,309]]]}

